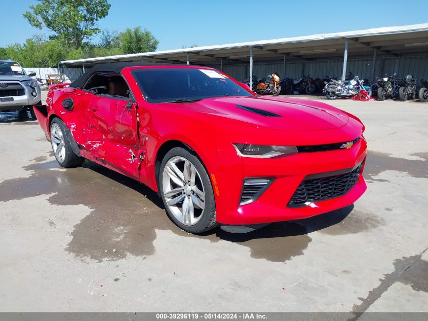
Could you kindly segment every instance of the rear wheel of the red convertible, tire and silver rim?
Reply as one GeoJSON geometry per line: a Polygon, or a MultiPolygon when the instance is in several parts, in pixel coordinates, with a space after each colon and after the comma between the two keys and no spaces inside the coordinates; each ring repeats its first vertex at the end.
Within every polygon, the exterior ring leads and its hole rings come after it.
{"type": "Polygon", "coordinates": [[[85,158],[74,154],[70,144],[71,137],[68,135],[70,134],[64,122],[54,118],[51,123],[51,144],[56,160],[62,167],[80,166],[85,158]]]}

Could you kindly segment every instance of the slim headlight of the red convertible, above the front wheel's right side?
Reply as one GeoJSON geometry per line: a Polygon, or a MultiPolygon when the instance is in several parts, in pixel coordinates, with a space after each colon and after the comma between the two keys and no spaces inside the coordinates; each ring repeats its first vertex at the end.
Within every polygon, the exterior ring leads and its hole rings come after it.
{"type": "Polygon", "coordinates": [[[290,156],[298,153],[295,146],[269,146],[252,144],[233,144],[239,156],[272,158],[290,156]]]}

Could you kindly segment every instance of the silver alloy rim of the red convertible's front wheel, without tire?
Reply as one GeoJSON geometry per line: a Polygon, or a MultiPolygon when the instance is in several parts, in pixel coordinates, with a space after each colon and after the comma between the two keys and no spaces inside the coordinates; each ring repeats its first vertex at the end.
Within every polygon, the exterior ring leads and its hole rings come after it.
{"type": "Polygon", "coordinates": [[[205,190],[201,175],[186,158],[174,156],[162,172],[162,193],[168,209],[181,224],[197,224],[205,209],[205,190]]]}

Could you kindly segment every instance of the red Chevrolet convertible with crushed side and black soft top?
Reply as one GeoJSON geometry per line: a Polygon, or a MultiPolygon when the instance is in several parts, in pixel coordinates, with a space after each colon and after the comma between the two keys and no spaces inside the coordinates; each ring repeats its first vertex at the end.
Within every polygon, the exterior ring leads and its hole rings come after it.
{"type": "Polygon", "coordinates": [[[191,233],[308,218],[366,190],[357,117],[319,101],[257,96],[209,67],[97,65],[52,85],[35,114],[61,166],[88,159],[138,180],[191,233]]]}

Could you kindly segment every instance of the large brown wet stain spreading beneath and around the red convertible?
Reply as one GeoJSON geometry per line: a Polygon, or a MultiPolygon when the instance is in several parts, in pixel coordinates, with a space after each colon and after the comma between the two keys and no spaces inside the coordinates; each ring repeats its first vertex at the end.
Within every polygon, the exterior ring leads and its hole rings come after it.
{"type": "Polygon", "coordinates": [[[72,240],[65,248],[82,260],[120,260],[127,254],[144,259],[155,252],[155,230],[167,229],[183,237],[234,242],[248,247],[253,258],[286,262],[303,255],[312,241],[310,232],[358,233],[383,223],[348,206],[306,220],[274,223],[246,234],[227,233],[219,228],[205,235],[187,234],[168,219],[162,200],[143,184],[90,161],[82,167],[58,171],[62,167],[47,159],[36,157],[32,160],[36,163],[25,166],[24,170],[33,171],[29,177],[0,183],[0,201],[56,193],[48,199],[51,204],[83,204],[91,208],[90,214],[74,226],[72,240]]]}

